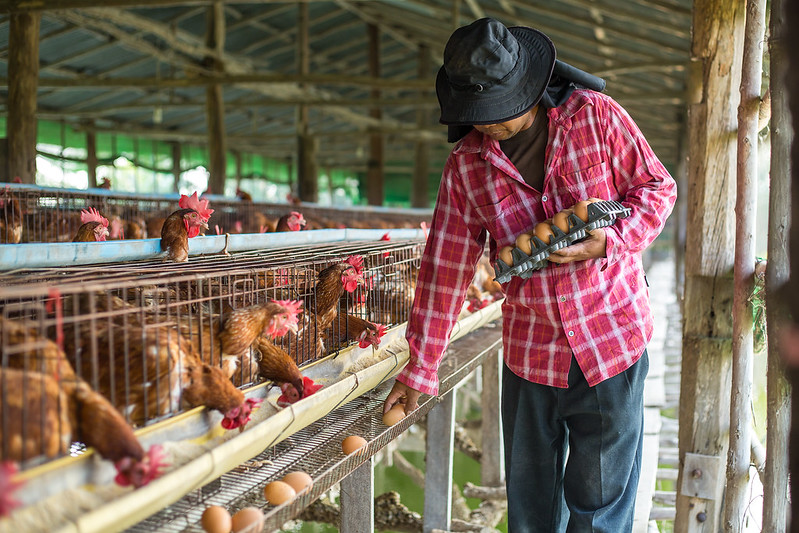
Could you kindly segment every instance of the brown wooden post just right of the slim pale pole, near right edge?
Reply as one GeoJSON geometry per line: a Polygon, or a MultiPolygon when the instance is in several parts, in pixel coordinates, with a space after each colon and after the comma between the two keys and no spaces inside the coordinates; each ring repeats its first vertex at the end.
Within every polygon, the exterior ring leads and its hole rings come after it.
{"type": "Polygon", "coordinates": [[[763,531],[785,531],[788,493],[788,435],[791,425],[791,388],[779,351],[785,318],[790,316],[782,296],[788,282],[788,232],[791,208],[790,149],[793,130],[785,90],[787,58],[784,39],[784,1],[771,2],[771,171],[769,172],[768,263],[766,264],[766,472],[763,482],[763,531]]]}

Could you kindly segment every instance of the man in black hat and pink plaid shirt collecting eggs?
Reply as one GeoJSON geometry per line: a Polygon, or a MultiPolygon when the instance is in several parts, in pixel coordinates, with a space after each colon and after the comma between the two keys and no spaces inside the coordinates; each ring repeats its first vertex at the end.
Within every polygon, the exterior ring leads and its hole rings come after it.
{"type": "Polygon", "coordinates": [[[486,236],[496,258],[579,200],[632,211],[503,286],[513,533],[632,529],[653,324],[640,253],[663,228],[676,186],[629,115],[584,88],[601,89],[597,81],[556,62],[541,32],[492,19],[452,34],[436,80],[440,121],[451,141],[463,138],[444,168],[422,258],[410,361],[384,409],[402,402],[410,412],[421,393],[438,392],[441,356],[486,236]]]}

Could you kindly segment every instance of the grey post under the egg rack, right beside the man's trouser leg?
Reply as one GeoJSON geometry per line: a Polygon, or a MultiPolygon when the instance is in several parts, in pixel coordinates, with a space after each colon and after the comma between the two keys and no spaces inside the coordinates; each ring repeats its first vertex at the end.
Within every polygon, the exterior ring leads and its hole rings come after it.
{"type": "Polygon", "coordinates": [[[481,428],[483,455],[480,457],[480,482],[485,487],[503,484],[504,466],[500,403],[502,400],[502,349],[483,362],[483,390],[480,406],[483,412],[481,428]]]}

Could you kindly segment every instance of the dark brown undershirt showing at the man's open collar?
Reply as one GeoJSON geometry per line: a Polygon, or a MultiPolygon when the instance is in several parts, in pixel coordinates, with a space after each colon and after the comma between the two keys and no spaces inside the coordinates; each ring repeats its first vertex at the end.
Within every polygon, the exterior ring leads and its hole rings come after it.
{"type": "Polygon", "coordinates": [[[499,147],[516,166],[524,181],[534,189],[544,188],[544,158],[547,150],[547,110],[539,107],[533,124],[505,141],[499,147]]]}

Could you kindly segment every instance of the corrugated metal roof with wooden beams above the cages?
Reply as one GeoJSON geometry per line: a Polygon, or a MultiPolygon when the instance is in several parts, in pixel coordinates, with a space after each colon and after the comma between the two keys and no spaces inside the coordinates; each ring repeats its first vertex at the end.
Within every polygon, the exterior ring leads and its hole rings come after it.
{"type": "MultiPolygon", "coordinates": [[[[39,113],[85,128],[143,137],[202,142],[206,135],[203,0],[51,0],[42,10],[39,113]],[[151,7],[137,7],[148,5],[151,7]],[[160,7],[155,7],[159,5],[160,7]],[[53,9],[60,7],[62,9],[53,9]],[[67,86],[69,85],[69,86],[67,86]],[[159,111],[155,111],[158,109],[159,111]]],[[[8,11],[24,0],[0,2],[8,11]]],[[[674,167],[689,60],[690,0],[349,0],[307,2],[310,72],[330,79],[298,83],[298,2],[225,3],[226,73],[223,83],[229,145],[268,155],[295,150],[296,105],[310,105],[310,131],[320,136],[319,164],[366,168],[367,131],[386,133],[387,156],[413,168],[417,109],[428,111],[424,130],[431,165],[449,151],[437,124],[433,88],[444,44],[456,25],[493,16],[508,25],[547,33],[558,57],[599,74],[606,92],[641,126],[663,161],[674,167]],[[459,6],[457,24],[453,5],[459,6]],[[380,120],[370,118],[367,25],[380,30],[380,120]],[[431,55],[424,89],[419,46],[431,55]],[[269,76],[277,75],[271,78],[269,76]],[[291,77],[294,76],[294,77],[291,77]],[[281,82],[282,77],[287,77],[281,82]],[[361,102],[359,104],[359,102],[361,102]],[[335,104],[335,105],[334,105],[335,104]]],[[[0,19],[0,76],[7,75],[9,19],[0,19]]],[[[0,87],[0,99],[7,88],[0,87]]],[[[5,112],[5,111],[4,111],[5,112]]]]}

